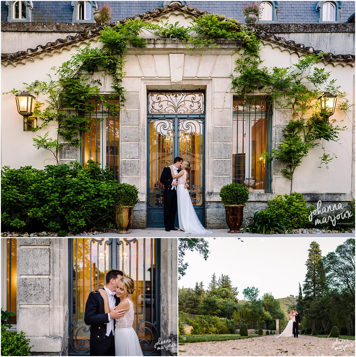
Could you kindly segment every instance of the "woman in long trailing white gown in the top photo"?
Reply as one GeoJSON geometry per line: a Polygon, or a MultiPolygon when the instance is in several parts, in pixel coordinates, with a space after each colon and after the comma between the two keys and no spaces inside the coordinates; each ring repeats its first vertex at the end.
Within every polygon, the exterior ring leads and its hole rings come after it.
{"type": "Polygon", "coordinates": [[[178,221],[179,231],[191,234],[212,234],[211,231],[206,230],[200,223],[192,204],[189,192],[184,185],[189,176],[191,166],[189,161],[183,161],[181,165],[182,170],[177,175],[174,174],[173,165],[170,166],[172,178],[177,178],[177,204],[178,204],[178,221]]]}

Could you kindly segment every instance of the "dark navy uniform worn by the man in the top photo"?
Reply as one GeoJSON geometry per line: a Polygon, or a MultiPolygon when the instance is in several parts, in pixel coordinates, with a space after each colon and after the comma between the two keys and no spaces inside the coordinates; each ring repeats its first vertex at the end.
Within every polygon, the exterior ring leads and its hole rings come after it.
{"type": "Polygon", "coordinates": [[[177,213],[177,188],[172,190],[172,174],[169,166],[165,166],[160,182],[164,184],[163,218],[165,229],[173,229],[177,213]]]}

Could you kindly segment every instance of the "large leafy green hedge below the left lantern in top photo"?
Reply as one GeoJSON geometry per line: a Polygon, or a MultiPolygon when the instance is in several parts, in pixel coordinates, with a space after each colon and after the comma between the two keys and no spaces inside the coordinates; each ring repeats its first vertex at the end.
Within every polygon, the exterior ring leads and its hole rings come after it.
{"type": "MultiPolygon", "coordinates": [[[[31,166],[1,171],[3,230],[50,230],[77,233],[84,228],[113,227],[114,195],[119,186],[108,169],[88,161],[70,165],[31,166]]],[[[119,186],[119,188],[122,186],[119,186]]],[[[129,199],[134,201],[134,189],[129,199]]]]}

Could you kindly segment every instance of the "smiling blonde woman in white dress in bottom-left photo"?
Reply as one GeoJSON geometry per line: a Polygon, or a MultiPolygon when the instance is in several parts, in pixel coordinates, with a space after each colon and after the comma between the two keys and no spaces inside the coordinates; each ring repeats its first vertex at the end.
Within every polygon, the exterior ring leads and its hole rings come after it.
{"type": "MultiPolygon", "coordinates": [[[[110,312],[109,297],[105,290],[100,289],[100,295],[104,299],[105,312],[110,312]]],[[[135,308],[130,295],[135,291],[134,281],[123,276],[116,286],[116,296],[120,298],[115,310],[125,309],[126,313],[115,321],[115,356],[143,356],[139,338],[132,327],[134,323],[135,308]]]]}

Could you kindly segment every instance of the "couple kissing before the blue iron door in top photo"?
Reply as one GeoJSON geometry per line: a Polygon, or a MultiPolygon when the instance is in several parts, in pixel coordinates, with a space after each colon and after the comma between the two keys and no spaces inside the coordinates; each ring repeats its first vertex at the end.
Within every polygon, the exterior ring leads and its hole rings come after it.
{"type": "Polygon", "coordinates": [[[200,223],[187,190],[190,169],[190,162],[183,161],[177,156],[173,164],[166,166],[162,171],[160,182],[164,185],[164,227],[167,232],[177,231],[174,221],[178,208],[178,231],[191,234],[212,234],[200,223]]]}

